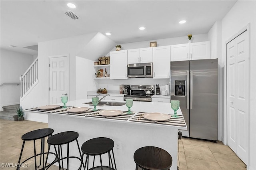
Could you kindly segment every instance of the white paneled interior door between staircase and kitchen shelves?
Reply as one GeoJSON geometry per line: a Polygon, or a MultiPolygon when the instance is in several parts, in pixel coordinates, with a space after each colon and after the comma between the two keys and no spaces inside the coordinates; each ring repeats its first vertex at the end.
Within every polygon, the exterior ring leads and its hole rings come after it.
{"type": "Polygon", "coordinates": [[[61,103],[60,97],[69,93],[68,57],[50,58],[50,104],[61,103]]]}

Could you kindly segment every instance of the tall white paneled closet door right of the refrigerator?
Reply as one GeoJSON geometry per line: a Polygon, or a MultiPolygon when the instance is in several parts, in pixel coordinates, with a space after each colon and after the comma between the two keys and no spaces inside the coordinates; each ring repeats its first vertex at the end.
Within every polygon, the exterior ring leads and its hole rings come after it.
{"type": "Polygon", "coordinates": [[[248,31],[227,44],[228,146],[247,164],[249,108],[248,31]]]}

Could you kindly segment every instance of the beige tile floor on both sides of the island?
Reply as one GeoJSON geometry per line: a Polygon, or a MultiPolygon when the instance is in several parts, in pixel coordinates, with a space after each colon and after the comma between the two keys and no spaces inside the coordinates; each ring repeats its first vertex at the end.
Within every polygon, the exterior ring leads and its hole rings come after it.
{"type": "MultiPolygon", "coordinates": [[[[0,169],[15,170],[22,146],[21,136],[31,130],[48,128],[47,123],[34,121],[6,121],[0,119],[0,169]],[[9,167],[4,167],[5,163],[9,167]],[[10,167],[11,166],[11,167],[10,167]]],[[[47,139],[46,139],[47,140],[47,139]]],[[[36,142],[39,149],[40,141],[36,142]]],[[[47,150],[47,145],[46,148],[47,150]]],[[[26,142],[23,158],[33,155],[33,142],[26,142]],[[30,144],[29,144],[30,143],[30,144]]],[[[39,150],[38,150],[39,152],[39,150]]],[[[246,170],[246,165],[222,142],[217,143],[182,138],[179,140],[179,170],[246,170]]],[[[34,169],[34,162],[29,160],[26,170],[34,169]]],[[[49,169],[57,170],[54,166],[49,169]]]]}

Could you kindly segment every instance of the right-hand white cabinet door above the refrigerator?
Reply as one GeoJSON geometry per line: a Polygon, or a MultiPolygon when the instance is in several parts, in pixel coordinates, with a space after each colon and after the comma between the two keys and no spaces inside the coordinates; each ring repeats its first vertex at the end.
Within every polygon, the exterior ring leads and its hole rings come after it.
{"type": "Polygon", "coordinates": [[[190,59],[210,59],[210,42],[189,43],[190,59]]]}

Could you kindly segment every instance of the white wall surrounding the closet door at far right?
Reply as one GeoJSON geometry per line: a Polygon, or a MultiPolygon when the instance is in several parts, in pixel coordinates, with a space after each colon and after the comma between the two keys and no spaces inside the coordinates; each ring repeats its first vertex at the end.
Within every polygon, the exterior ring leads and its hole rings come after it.
{"type": "MultiPolygon", "coordinates": [[[[226,69],[226,43],[249,24],[249,156],[247,169],[256,169],[256,1],[239,0],[222,19],[222,66],[226,69]]],[[[226,80],[225,80],[226,81],[226,80]]],[[[226,92],[225,92],[226,93],[226,92]]],[[[226,109],[224,110],[226,115],[226,109]]],[[[224,117],[224,120],[225,117],[224,117]]],[[[226,122],[225,122],[226,123],[226,122]]],[[[224,131],[225,133],[225,131],[224,131]]]]}

